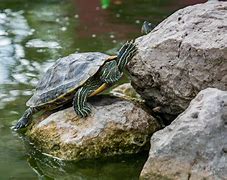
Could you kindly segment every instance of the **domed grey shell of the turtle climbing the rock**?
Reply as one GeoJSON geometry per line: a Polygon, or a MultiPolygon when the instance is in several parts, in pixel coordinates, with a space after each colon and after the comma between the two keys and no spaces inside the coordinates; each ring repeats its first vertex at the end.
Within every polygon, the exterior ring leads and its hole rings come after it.
{"type": "Polygon", "coordinates": [[[34,95],[26,103],[38,107],[75,93],[108,60],[99,52],[75,53],[58,59],[39,80],[34,95]]]}

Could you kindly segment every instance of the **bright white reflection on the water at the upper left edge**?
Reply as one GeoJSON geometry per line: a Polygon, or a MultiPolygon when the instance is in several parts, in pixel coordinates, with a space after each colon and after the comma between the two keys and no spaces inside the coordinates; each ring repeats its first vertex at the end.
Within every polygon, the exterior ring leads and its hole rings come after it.
{"type": "Polygon", "coordinates": [[[0,83],[10,82],[10,68],[24,56],[21,46],[25,37],[31,34],[23,11],[7,9],[0,13],[0,83]]]}

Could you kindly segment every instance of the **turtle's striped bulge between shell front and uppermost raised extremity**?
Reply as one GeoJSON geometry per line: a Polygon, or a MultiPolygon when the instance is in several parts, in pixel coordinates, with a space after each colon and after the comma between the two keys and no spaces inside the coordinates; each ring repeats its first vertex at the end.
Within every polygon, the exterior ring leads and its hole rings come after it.
{"type": "Polygon", "coordinates": [[[113,84],[121,78],[122,74],[116,61],[107,62],[100,71],[100,80],[103,83],[113,84]]]}

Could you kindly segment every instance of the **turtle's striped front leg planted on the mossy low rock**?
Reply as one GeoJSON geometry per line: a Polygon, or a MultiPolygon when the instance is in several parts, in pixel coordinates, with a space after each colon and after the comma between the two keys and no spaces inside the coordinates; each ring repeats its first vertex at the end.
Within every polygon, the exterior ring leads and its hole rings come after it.
{"type": "MultiPolygon", "coordinates": [[[[94,89],[95,90],[95,89],[94,89]]],[[[80,117],[87,117],[91,113],[91,105],[87,102],[87,97],[92,93],[92,87],[81,87],[73,98],[73,108],[80,117]]]]}

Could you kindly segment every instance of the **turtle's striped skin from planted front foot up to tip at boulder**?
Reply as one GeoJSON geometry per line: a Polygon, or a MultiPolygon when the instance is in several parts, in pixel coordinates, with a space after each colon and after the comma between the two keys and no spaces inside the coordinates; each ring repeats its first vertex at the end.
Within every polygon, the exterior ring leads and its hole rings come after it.
{"type": "Polygon", "coordinates": [[[91,105],[87,103],[87,98],[103,83],[112,85],[117,82],[122,74],[126,64],[137,53],[137,47],[133,42],[125,43],[120,49],[117,60],[106,62],[99,74],[99,78],[93,78],[83,87],[79,88],[73,99],[73,107],[76,114],[80,117],[86,117],[91,113],[91,105]]]}

